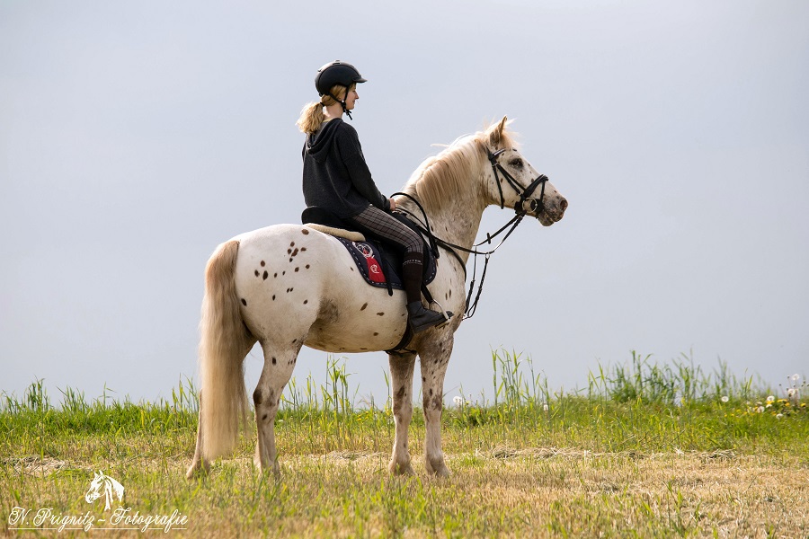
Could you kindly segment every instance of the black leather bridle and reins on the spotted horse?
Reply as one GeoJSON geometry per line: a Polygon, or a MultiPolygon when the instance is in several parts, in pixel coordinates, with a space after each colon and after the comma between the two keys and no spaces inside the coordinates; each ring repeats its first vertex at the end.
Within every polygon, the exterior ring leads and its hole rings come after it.
{"type": "MultiPolygon", "coordinates": [[[[422,208],[421,203],[419,203],[418,200],[414,199],[411,195],[409,195],[407,193],[396,192],[396,193],[393,194],[393,196],[402,195],[402,196],[406,197],[407,199],[413,200],[413,203],[415,203],[416,207],[418,207],[419,210],[421,210],[423,221],[424,221],[423,226],[419,222],[413,223],[413,225],[415,225],[422,234],[427,236],[427,238],[430,241],[431,250],[432,250],[432,252],[435,253],[436,258],[438,258],[438,250],[436,249],[436,245],[440,245],[444,249],[447,249],[453,256],[455,256],[456,259],[458,259],[458,262],[460,262],[461,268],[464,270],[464,280],[466,280],[466,278],[467,278],[467,265],[461,259],[460,255],[458,254],[458,252],[456,250],[463,251],[463,252],[468,252],[469,254],[474,254],[475,255],[473,263],[472,263],[472,281],[469,283],[469,292],[467,293],[467,306],[466,306],[466,309],[464,311],[464,320],[467,320],[467,318],[472,318],[472,316],[474,316],[476,311],[477,311],[477,303],[478,303],[478,301],[480,301],[480,296],[483,293],[483,286],[484,286],[484,282],[485,282],[485,279],[486,279],[486,270],[488,269],[488,266],[489,266],[489,258],[492,256],[493,252],[500,249],[500,246],[503,243],[505,243],[505,241],[507,239],[509,239],[509,236],[511,235],[511,233],[514,232],[514,230],[517,228],[518,225],[520,225],[520,223],[522,222],[523,217],[525,217],[528,214],[529,211],[537,212],[538,208],[542,208],[542,201],[545,198],[545,184],[546,184],[546,182],[548,180],[547,176],[545,174],[540,174],[539,177],[536,180],[531,181],[529,183],[528,187],[523,188],[520,185],[520,183],[518,181],[516,181],[513,176],[511,176],[511,173],[509,173],[507,170],[505,170],[502,167],[502,164],[500,164],[500,162],[498,161],[497,158],[503,152],[505,152],[505,149],[498,150],[498,151],[492,153],[491,151],[489,151],[488,148],[486,148],[486,153],[488,154],[489,162],[492,163],[492,171],[494,172],[494,183],[497,185],[497,190],[500,192],[500,208],[505,207],[505,199],[504,199],[503,194],[502,194],[502,187],[500,186],[500,183],[501,183],[500,174],[502,174],[502,177],[506,181],[508,181],[509,185],[511,186],[511,189],[513,189],[518,195],[520,195],[520,201],[517,204],[514,205],[514,213],[516,215],[511,217],[511,220],[508,223],[506,223],[505,225],[502,225],[502,227],[500,227],[500,229],[497,232],[495,232],[494,234],[486,233],[486,239],[484,241],[480,242],[480,243],[473,244],[471,249],[467,249],[466,247],[456,245],[455,243],[449,243],[446,240],[442,240],[439,237],[436,237],[435,234],[432,234],[432,230],[431,230],[431,227],[430,227],[430,222],[427,220],[427,212],[424,211],[424,208],[422,208]],[[537,187],[539,185],[542,186],[542,189],[539,191],[539,199],[531,198],[531,195],[534,194],[534,191],[537,190],[537,187]],[[485,251],[485,252],[477,251],[477,247],[480,247],[481,245],[483,245],[485,243],[491,244],[493,238],[495,238],[498,235],[502,234],[502,232],[504,230],[506,230],[506,229],[508,229],[508,232],[502,237],[502,240],[500,240],[500,243],[498,243],[497,246],[494,247],[494,249],[492,249],[491,251],[485,251]],[[478,287],[477,287],[477,294],[475,296],[475,300],[472,301],[472,295],[473,295],[473,293],[475,291],[475,281],[476,281],[476,277],[477,277],[477,257],[478,256],[485,257],[484,269],[483,269],[483,272],[481,273],[480,285],[478,285],[478,287]]],[[[406,213],[406,214],[408,214],[408,215],[410,215],[410,216],[412,216],[412,217],[414,217],[415,219],[418,220],[418,217],[414,216],[411,212],[409,212],[407,210],[404,210],[404,209],[401,210],[401,211],[402,211],[402,213],[406,213]]],[[[537,218],[538,218],[538,216],[537,216],[537,218]]]]}

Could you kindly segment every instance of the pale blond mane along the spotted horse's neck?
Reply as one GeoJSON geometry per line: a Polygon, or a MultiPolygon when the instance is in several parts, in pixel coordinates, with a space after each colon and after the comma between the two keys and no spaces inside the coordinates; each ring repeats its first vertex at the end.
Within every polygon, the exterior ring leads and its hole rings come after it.
{"type": "MultiPolygon", "coordinates": [[[[438,155],[425,159],[405,184],[404,192],[418,199],[429,211],[440,209],[444,200],[455,198],[459,191],[472,189],[473,181],[488,163],[486,148],[496,149],[490,144],[490,137],[497,128],[495,125],[474,135],[459,137],[438,155]]],[[[513,134],[503,129],[497,147],[515,145],[513,134]]]]}

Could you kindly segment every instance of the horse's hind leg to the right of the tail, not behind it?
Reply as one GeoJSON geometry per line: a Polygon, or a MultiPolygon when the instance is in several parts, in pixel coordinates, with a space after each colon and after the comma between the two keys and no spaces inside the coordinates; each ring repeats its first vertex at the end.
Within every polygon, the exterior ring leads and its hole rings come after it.
{"type": "Polygon", "coordinates": [[[269,343],[262,343],[264,367],[253,392],[255,424],[258,432],[255,465],[260,467],[262,472],[270,469],[276,474],[280,472],[275,449],[275,415],[278,413],[281,393],[298,361],[302,342],[302,339],[295,340],[286,350],[274,349],[269,343]]]}

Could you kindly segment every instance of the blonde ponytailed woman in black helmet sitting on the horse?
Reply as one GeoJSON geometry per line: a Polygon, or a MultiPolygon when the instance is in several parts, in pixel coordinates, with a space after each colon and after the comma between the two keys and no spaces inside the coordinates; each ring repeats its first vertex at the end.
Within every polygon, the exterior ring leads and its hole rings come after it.
{"type": "Polygon", "coordinates": [[[396,201],[379,192],[356,129],[342,121],[343,113],[351,119],[351,110],[360,98],[357,84],[364,82],[356,67],[340,60],[317,70],[315,88],[320,101],[307,104],[298,119],[298,128],[307,135],[303,147],[304,199],[307,207],[329,210],[405,251],[402,280],[409,322],[413,332],[424,331],[446,319],[422,305],[422,238],[390,215],[396,201]]]}

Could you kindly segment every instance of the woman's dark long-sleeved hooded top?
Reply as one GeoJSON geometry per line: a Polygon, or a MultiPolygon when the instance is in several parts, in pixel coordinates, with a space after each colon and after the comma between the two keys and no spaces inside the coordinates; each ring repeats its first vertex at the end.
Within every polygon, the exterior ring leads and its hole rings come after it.
{"type": "Polygon", "coordinates": [[[390,210],[371,178],[357,130],[342,119],[329,120],[307,135],[302,154],[307,207],[328,209],[342,219],[360,214],[369,204],[390,210]]]}

